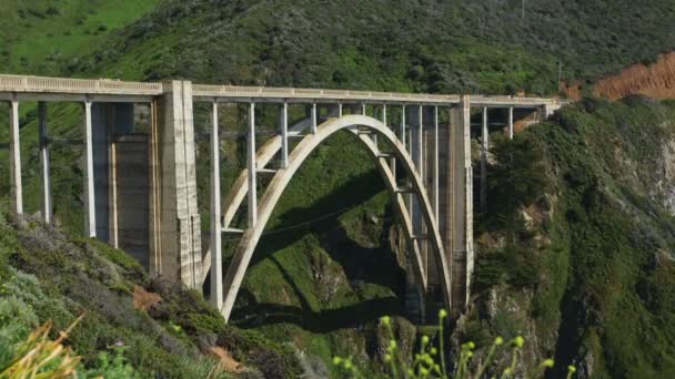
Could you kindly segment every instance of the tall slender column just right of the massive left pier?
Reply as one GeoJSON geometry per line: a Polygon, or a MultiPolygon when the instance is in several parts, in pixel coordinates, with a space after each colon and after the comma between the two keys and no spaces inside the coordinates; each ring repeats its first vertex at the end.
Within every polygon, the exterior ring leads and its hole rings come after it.
{"type": "Polygon", "coordinates": [[[211,122],[211,304],[223,305],[222,224],[220,207],[220,137],[218,103],[213,102],[211,122]]]}

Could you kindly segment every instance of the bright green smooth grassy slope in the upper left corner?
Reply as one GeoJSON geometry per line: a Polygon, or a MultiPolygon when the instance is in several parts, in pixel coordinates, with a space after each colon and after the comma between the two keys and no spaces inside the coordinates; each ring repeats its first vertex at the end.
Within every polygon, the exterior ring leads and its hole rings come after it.
{"type": "Polygon", "coordinates": [[[142,18],[160,0],[8,0],[0,3],[3,72],[53,74],[142,18]]]}

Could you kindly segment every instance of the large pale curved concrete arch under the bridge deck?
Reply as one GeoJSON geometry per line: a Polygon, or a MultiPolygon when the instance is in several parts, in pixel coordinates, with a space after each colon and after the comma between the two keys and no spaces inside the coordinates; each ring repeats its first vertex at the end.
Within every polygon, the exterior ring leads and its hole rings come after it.
{"type": "MultiPolygon", "coordinates": [[[[413,256],[412,262],[415,270],[415,277],[422,284],[422,288],[426,288],[426,275],[423,272],[422,259],[420,249],[416,243],[412,238],[412,221],[409,212],[405,208],[405,202],[403,196],[396,190],[396,181],[392,171],[390,170],[386,158],[383,157],[377,148],[377,145],[370,139],[369,134],[376,134],[381,141],[387,141],[392,146],[392,154],[394,154],[400,162],[400,168],[403,170],[411,182],[411,190],[416,195],[423,221],[427,227],[427,240],[431,244],[432,253],[436,262],[436,266],[440,270],[441,287],[443,290],[443,299],[445,306],[450,309],[450,267],[445,254],[443,252],[443,244],[441,235],[439,233],[435,217],[433,216],[432,206],[426,196],[426,191],[422,178],[415,171],[414,163],[405,147],[401,144],[394,132],[392,132],[385,124],[369,117],[365,115],[345,115],[340,119],[329,119],[326,122],[321,124],[316,129],[316,133],[308,134],[289,155],[289,165],[286,168],[279,170],[270,184],[268,185],[262,198],[260,199],[258,207],[258,222],[255,225],[249,227],[242,235],[241,240],[236,247],[234,256],[228,272],[225,274],[223,288],[224,288],[224,303],[221,308],[221,313],[225,320],[230,318],[234,300],[243,281],[245,272],[251,262],[251,257],[260,242],[260,238],[264,232],[265,225],[270,219],[272,212],[274,211],[279,198],[283,194],[290,181],[295,175],[295,172],[302,166],[304,161],[310,154],[323,143],[326,139],[333,135],[335,132],[341,130],[349,130],[357,135],[357,140],[370,153],[370,156],[375,161],[376,166],[382,174],[385,185],[390,194],[394,197],[394,208],[403,221],[405,235],[409,246],[412,247],[413,256]],[[367,134],[364,134],[367,133],[367,134]]],[[[410,250],[410,248],[409,248],[410,250]]],[[[205,259],[206,260],[206,259],[205,259]]]]}

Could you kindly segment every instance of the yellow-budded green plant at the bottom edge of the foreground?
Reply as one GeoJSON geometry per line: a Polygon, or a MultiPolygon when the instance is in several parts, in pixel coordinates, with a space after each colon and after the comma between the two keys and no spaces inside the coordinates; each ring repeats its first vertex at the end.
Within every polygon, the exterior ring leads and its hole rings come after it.
{"type": "MultiPolygon", "coordinates": [[[[454,369],[449,371],[445,361],[445,347],[443,344],[443,325],[446,317],[447,313],[444,309],[441,309],[439,313],[439,348],[432,346],[429,336],[422,336],[420,351],[415,354],[410,366],[406,363],[406,360],[401,358],[396,340],[393,338],[391,318],[384,316],[380,319],[381,325],[384,326],[389,334],[389,345],[384,361],[389,365],[389,375],[391,378],[478,379],[487,377],[488,372],[491,375],[490,378],[495,379],[497,377],[501,379],[516,377],[516,367],[520,361],[523,345],[525,344],[525,339],[521,336],[513,338],[507,341],[507,344],[505,344],[506,341],[504,341],[502,337],[496,337],[487,350],[487,356],[477,365],[477,367],[475,365],[470,365],[474,357],[475,344],[472,341],[463,344],[460,349],[460,359],[454,369]],[[508,355],[511,357],[510,365],[504,368],[496,367],[498,361],[497,358],[508,355]],[[488,370],[491,366],[494,367],[488,370]]],[[[345,373],[353,378],[365,378],[351,358],[335,357],[333,358],[333,365],[340,367],[345,373]]],[[[534,372],[526,375],[526,378],[542,378],[546,369],[553,368],[555,362],[553,359],[544,359],[544,361],[536,367],[534,372]]],[[[575,371],[576,368],[574,366],[567,366],[567,379],[571,379],[575,371]]]]}

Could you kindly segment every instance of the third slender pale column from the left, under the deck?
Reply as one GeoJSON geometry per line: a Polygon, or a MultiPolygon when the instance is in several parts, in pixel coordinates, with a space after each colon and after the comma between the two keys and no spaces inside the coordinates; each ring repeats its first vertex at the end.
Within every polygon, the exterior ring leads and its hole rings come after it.
{"type": "Polygon", "coordinates": [[[94,196],[93,171],[93,136],[91,129],[91,102],[84,102],[84,122],[82,124],[84,139],[84,236],[97,236],[97,214],[94,196]]]}

